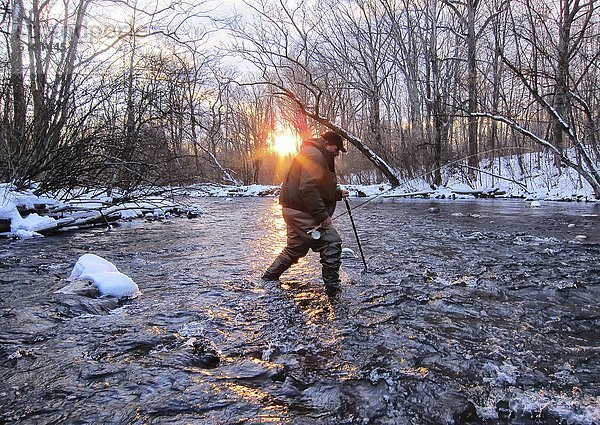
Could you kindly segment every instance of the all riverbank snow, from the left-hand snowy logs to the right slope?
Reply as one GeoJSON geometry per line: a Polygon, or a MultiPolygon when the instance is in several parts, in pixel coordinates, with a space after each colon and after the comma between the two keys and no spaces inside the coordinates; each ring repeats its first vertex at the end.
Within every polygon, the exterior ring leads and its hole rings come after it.
{"type": "MultiPolygon", "coordinates": [[[[480,163],[474,183],[468,185],[468,169],[458,162],[442,169],[444,186],[432,187],[425,175],[405,179],[400,187],[389,184],[346,184],[341,187],[353,197],[428,197],[438,199],[472,199],[480,197],[523,198],[528,201],[597,202],[590,185],[573,169],[558,170],[551,155],[532,153],[520,157],[502,157],[480,163]]],[[[430,175],[431,173],[427,173],[430,175]]],[[[27,238],[69,227],[108,225],[117,220],[141,217],[162,218],[172,213],[196,217],[202,211],[181,205],[172,197],[247,197],[277,196],[279,186],[231,186],[214,183],[188,187],[156,188],[164,196],[139,196],[137,201],[116,202],[106,193],[84,193],[68,202],[17,192],[0,183],[0,236],[27,238]],[[36,209],[43,206],[42,210],[36,209]],[[44,212],[42,212],[44,211],[44,212]]],[[[538,204],[534,204],[538,205],[538,204]]],[[[541,205],[541,204],[540,204],[541,205]]]]}

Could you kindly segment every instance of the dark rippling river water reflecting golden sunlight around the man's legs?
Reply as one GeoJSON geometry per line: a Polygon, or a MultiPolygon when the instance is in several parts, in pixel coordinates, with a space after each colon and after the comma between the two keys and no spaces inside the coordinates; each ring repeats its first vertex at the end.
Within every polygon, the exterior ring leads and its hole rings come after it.
{"type": "Polygon", "coordinates": [[[272,199],[200,202],[0,241],[0,423],[600,422],[600,205],[376,200],[329,298],[314,254],[258,278],[272,199]],[[143,295],[57,293],[87,252],[143,295]]]}

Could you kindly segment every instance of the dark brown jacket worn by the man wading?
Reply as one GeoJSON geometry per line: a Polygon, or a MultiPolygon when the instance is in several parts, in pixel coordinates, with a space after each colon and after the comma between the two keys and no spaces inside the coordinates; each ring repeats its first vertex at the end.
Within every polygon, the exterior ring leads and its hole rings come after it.
{"type": "Polygon", "coordinates": [[[319,223],[332,216],[342,199],[335,176],[335,155],[321,138],[302,143],[285,176],[279,203],[310,213],[319,223]]]}

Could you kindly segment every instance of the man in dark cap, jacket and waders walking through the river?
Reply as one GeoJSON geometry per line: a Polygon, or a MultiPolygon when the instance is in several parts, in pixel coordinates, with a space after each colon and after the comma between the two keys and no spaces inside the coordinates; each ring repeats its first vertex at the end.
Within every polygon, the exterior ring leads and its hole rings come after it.
{"type": "Polygon", "coordinates": [[[336,202],[348,196],[348,192],[337,186],[334,165],[340,151],[347,152],[343,140],[339,134],[328,131],[303,142],[292,160],[279,195],[287,224],[287,246],[263,274],[263,279],[278,280],[312,249],[321,255],[326,289],[329,292],[340,289],[342,240],[331,216],[336,202]]]}

